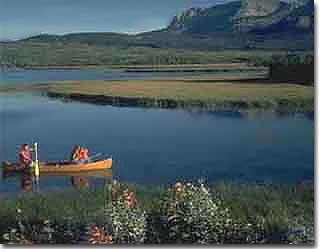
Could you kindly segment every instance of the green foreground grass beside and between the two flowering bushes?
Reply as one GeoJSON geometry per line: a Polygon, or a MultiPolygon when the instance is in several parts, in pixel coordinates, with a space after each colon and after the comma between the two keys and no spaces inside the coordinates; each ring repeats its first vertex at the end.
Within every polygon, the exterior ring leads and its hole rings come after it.
{"type": "MultiPolygon", "coordinates": [[[[157,186],[125,185],[137,195],[138,206],[156,215],[167,189],[157,186]]],[[[0,235],[20,220],[34,224],[50,220],[55,224],[72,221],[79,224],[99,224],[103,210],[110,203],[108,187],[97,190],[68,190],[49,194],[22,194],[2,200],[0,235]]],[[[255,185],[218,183],[211,186],[212,195],[222,201],[233,219],[241,222],[263,221],[266,232],[276,237],[295,224],[314,222],[314,185],[255,185]]],[[[1,241],[1,239],[0,239],[1,241]]],[[[274,238],[276,241],[276,238],[274,238]]]]}

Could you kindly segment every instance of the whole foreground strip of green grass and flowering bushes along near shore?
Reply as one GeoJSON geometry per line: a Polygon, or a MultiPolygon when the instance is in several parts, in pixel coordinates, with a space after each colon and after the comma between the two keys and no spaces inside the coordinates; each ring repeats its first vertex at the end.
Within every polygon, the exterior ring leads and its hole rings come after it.
{"type": "Polygon", "coordinates": [[[2,201],[13,244],[313,244],[314,187],[114,183],[2,201]]]}

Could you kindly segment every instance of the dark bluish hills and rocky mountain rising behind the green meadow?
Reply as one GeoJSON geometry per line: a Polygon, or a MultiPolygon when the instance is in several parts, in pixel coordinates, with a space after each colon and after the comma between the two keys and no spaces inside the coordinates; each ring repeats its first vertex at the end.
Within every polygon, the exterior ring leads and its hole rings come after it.
{"type": "Polygon", "coordinates": [[[163,30],[138,35],[77,33],[39,35],[22,42],[94,46],[214,49],[313,49],[314,4],[292,8],[279,0],[242,0],[191,8],[163,30]]]}

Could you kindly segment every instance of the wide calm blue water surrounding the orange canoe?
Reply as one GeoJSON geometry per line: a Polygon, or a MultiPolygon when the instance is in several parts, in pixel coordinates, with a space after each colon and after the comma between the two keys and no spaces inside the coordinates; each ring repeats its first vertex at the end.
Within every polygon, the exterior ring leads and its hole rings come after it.
{"type": "MultiPolygon", "coordinates": [[[[37,141],[40,160],[67,159],[75,144],[111,154],[113,177],[131,183],[314,178],[311,118],[96,106],[21,94],[0,101],[0,161],[16,160],[18,145],[37,141]]],[[[0,180],[0,193],[20,185],[18,178],[0,180]]],[[[45,189],[70,185],[70,177],[40,179],[45,189]]]]}

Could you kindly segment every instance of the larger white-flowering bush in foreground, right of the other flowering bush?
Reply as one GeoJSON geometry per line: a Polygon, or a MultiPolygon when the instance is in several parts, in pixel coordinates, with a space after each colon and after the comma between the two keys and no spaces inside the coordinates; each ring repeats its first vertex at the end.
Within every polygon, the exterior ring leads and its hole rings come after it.
{"type": "Polygon", "coordinates": [[[169,241],[180,243],[223,243],[231,226],[228,209],[203,186],[180,184],[168,193],[163,216],[169,241]]]}

